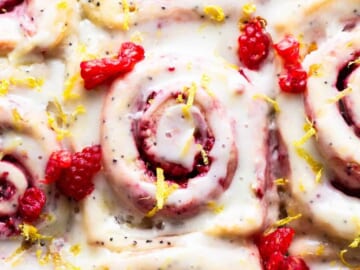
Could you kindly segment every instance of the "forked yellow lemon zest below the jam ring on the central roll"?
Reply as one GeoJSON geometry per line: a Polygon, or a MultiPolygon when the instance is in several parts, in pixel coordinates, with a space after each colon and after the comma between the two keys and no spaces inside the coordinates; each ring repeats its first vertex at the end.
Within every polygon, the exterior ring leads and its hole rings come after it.
{"type": "Polygon", "coordinates": [[[178,188],[179,185],[166,182],[163,169],[156,168],[156,205],[146,216],[153,217],[159,210],[163,209],[168,197],[178,188]]]}

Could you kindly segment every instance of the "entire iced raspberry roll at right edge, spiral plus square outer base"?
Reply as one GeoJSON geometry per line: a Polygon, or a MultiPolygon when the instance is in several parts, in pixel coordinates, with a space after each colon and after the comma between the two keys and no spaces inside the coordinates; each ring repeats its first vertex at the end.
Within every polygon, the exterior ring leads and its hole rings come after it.
{"type": "MultiPolygon", "coordinates": [[[[324,256],[338,257],[349,244],[356,246],[351,242],[359,235],[359,49],[358,29],[340,32],[304,60],[304,106],[299,96],[279,96],[288,210],[303,215],[306,233],[325,233],[319,240],[329,249],[324,256]]],[[[360,259],[356,253],[354,258],[360,259]]]]}

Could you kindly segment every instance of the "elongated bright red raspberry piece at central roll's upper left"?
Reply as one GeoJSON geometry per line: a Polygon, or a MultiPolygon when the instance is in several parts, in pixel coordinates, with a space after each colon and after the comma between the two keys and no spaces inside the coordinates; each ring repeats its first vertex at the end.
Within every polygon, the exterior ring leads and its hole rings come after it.
{"type": "Polygon", "coordinates": [[[144,48],[131,42],[121,45],[117,58],[102,58],[80,63],[81,77],[87,90],[130,72],[145,58],[144,48]]]}

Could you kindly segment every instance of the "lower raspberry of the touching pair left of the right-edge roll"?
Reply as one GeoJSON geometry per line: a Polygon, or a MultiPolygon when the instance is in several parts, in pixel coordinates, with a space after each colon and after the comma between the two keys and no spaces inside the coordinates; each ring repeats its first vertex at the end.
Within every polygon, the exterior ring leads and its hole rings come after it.
{"type": "Polygon", "coordinates": [[[303,93],[306,90],[307,73],[301,65],[288,66],[279,77],[280,89],[286,93],[303,93]]]}

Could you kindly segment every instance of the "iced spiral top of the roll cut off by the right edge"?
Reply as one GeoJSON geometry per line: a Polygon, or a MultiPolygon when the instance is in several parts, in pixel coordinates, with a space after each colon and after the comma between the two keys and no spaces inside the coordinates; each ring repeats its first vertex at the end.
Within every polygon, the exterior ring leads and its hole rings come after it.
{"type": "Polygon", "coordinates": [[[355,195],[360,194],[358,35],[338,35],[335,46],[328,44],[309,56],[306,64],[316,71],[305,100],[319,150],[336,174],[333,181],[355,195]]]}

